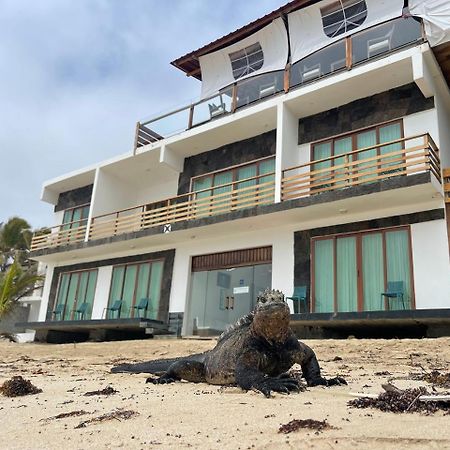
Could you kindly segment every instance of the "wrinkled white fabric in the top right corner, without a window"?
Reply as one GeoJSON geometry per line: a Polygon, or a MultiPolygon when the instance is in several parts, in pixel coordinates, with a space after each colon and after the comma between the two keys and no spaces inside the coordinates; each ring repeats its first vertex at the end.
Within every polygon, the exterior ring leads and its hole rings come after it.
{"type": "Polygon", "coordinates": [[[425,34],[432,47],[450,41],[448,0],[410,0],[409,12],[423,19],[425,34]]]}

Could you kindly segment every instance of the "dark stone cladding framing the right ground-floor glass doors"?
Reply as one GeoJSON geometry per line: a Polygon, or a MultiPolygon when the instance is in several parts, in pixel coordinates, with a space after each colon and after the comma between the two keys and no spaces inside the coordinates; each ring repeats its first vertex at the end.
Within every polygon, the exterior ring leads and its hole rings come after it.
{"type": "Polygon", "coordinates": [[[330,234],[354,233],[363,230],[376,230],[412,223],[428,222],[444,218],[443,209],[433,209],[402,216],[383,217],[363,222],[347,223],[324,228],[297,231],[294,233],[294,286],[307,286],[307,298],[310,298],[311,280],[311,238],[330,234]]]}

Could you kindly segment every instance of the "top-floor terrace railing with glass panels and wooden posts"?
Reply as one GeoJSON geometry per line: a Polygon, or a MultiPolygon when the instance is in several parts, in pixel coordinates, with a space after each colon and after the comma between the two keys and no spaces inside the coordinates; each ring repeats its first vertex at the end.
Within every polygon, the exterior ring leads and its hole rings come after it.
{"type": "Polygon", "coordinates": [[[237,81],[217,95],[176,109],[136,127],[135,151],[237,109],[266,100],[303,84],[343,70],[350,70],[374,58],[414,45],[423,40],[421,23],[414,18],[397,18],[322,48],[289,64],[285,70],[237,81]]]}

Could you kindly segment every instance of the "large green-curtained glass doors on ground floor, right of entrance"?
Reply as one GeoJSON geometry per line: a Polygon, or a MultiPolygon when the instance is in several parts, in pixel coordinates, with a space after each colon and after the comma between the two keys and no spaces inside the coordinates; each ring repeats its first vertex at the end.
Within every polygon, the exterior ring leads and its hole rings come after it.
{"type": "Polygon", "coordinates": [[[313,238],[315,312],[413,308],[409,227],[313,238]],[[403,285],[404,300],[383,297],[389,282],[403,285]]]}

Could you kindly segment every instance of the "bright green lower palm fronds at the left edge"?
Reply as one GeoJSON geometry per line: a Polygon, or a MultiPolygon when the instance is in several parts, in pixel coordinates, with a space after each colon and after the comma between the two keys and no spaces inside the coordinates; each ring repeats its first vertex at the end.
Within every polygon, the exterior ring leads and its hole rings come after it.
{"type": "Polygon", "coordinates": [[[0,273],[0,318],[8,314],[22,297],[39,289],[41,286],[36,283],[43,279],[43,276],[24,271],[18,261],[0,273]]]}

